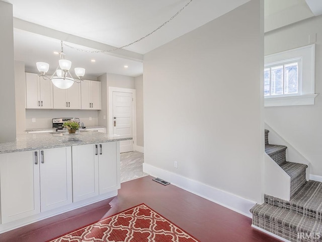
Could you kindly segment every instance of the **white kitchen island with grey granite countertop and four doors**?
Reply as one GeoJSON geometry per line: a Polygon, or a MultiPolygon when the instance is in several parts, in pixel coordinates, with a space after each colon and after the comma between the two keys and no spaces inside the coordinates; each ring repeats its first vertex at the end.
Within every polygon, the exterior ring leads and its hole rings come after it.
{"type": "Polygon", "coordinates": [[[117,196],[119,141],[99,132],[0,143],[0,233],[117,196]]]}

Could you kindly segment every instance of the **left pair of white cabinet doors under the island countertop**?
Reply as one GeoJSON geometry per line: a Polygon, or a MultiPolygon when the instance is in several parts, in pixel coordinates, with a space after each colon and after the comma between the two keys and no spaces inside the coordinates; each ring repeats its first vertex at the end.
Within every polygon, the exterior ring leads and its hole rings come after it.
{"type": "Polygon", "coordinates": [[[1,223],[72,203],[71,147],[0,154],[1,223]]]}

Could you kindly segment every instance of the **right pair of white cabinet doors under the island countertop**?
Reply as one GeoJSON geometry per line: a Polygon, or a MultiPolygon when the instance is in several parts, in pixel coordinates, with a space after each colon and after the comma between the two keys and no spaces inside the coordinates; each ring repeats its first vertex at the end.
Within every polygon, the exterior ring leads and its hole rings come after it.
{"type": "Polygon", "coordinates": [[[120,188],[118,149],[117,142],[72,147],[73,202],[120,188]]]}

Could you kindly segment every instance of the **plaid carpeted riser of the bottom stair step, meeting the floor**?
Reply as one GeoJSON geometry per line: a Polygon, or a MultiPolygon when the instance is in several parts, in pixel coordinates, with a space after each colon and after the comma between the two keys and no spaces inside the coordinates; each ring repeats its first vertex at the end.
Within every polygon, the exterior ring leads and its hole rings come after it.
{"type": "Polygon", "coordinates": [[[295,231],[289,227],[282,226],[281,224],[272,222],[271,220],[259,217],[257,215],[253,215],[253,224],[257,227],[260,227],[262,229],[265,229],[271,233],[274,233],[278,236],[281,236],[283,238],[286,238],[290,241],[294,242],[320,242],[322,241],[322,236],[318,238],[316,235],[312,235],[312,238],[306,238],[305,236],[302,236],[301,238],[298,238],[300,236],[298,231],[295,231]]]}

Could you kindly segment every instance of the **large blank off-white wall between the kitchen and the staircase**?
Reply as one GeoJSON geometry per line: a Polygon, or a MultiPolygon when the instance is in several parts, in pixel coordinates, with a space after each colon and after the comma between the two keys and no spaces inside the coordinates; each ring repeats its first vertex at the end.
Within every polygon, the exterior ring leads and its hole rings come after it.
{"type": "Polygon", "coordinates": [[[261,4],[248,2],[143,61],[144,162],[257,202],[264,163],[261,4]]]}

